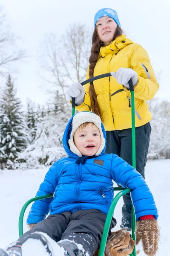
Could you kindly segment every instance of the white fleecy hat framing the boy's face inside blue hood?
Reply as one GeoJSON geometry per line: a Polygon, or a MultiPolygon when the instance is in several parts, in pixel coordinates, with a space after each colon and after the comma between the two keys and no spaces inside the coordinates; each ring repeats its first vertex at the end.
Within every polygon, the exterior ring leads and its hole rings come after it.
{"type": "Polygon", "coordinates": [[[86,122],[94,123],[94,125],[99,129],[100,136],[101,136],[101,145],[95,154],[96,156],[98,156],[99,154],[101,154],[102,150],[104,149],[106,140],[104,139],[103,131],[101,128],[100,116],[96,115],[95,113],[89,112],[89,111],[79,112],[79,113],[75,114],[75,116],[72,119],[72,131],[70,134],[70,139],[68,141],[70,150],[73,153],[77,154],[79,157],[82,157],[81,152],[75,146],[73,136],[75,134],[75,131],[78,129],[78,127],[86,122]]]}

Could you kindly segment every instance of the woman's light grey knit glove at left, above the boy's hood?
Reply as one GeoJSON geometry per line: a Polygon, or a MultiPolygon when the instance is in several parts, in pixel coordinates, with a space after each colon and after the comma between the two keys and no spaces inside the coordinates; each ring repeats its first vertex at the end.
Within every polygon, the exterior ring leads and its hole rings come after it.
{"type": "Polygon", "coordinates": [[[75,98],[75,105],[81,105],[84,102],[84,93],[85,89],[80,83],[73,83],[69,86],[66,90],[66,94],[69,96],[70,99],[75,98]]]}

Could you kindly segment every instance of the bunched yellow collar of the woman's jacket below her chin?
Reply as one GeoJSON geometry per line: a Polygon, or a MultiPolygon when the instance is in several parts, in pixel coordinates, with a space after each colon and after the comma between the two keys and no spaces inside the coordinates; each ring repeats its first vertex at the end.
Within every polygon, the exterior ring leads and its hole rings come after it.
{"type": "Polygon", "coordinates": [[[127,46],[127,44],[133,44],[133,41],[126,38],[126,35],[119,35],[114,41],[109,45],[101,47],[99,56],[104,57],[107,54],[115,54],[120,49],[127,46]]]}

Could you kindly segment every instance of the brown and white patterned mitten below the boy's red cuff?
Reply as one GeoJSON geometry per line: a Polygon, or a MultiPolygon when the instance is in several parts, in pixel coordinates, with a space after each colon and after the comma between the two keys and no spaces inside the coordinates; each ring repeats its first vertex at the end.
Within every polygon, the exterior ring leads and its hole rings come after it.
{"type": "Polygon", "coordinates": [[[158,250],[159,229],[156,219],[136,221],[136,244],[142,241],[144,253],[153,256],[158,250]]]}

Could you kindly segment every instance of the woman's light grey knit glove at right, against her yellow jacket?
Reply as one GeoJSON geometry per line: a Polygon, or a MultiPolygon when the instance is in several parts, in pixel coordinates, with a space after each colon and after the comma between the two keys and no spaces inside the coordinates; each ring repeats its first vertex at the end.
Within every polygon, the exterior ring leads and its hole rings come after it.
{"type": "Polygon", "coordinates": [[[130,89],[128,83],[130,79],[132,79],[133,86],[138,83],[138,74],[131,68],[121,67],[117,72],[110,72],[110,74],[119,84],[123,84],[127,89],[130,89]]]}

